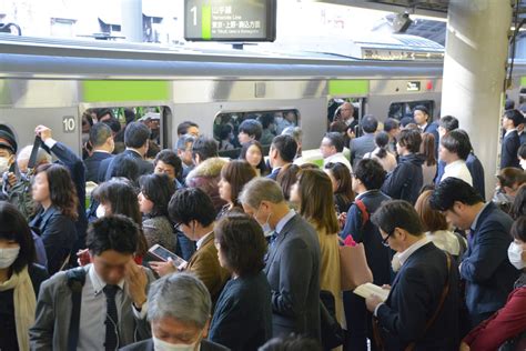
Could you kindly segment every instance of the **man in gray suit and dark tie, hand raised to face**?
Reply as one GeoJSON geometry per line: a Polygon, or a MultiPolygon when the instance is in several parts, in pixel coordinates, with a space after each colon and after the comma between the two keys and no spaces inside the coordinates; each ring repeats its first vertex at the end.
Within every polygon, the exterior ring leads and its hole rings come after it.
{"type": "Polygon", "coordinates": [[[151,337],[146,289],[153,274],[133,261],[139,228],[124,215],[92,223],[91,264],[59,272],[40,288],[31,350],[117,350],[151,337]]]}

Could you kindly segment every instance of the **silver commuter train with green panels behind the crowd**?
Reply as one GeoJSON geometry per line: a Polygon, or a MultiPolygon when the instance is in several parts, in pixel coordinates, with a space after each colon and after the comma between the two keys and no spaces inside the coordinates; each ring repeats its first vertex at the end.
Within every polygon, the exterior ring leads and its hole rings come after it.
{"type": "MultiPolygon", "coordinates": [[[[303,149],[317,149],[327,109],[338,99],[352,101],[358,118],[371,113],[380,121],[399,119],[416,104],[434,119],[441,113],[443,60],[436,58],[388,61],[9,34],[0,34],[0,123],[14,130],[21,146],[32,143],[37,124],[45,124],[81,152],[82,116],[98,108],[154,109],[161,148],[175,146],[182,121],[213,136],[225,116],[294,111],[303,149]]],[[[517,101],[526,92],[523,63],[515,62],[507,92],[517,101]]]]}

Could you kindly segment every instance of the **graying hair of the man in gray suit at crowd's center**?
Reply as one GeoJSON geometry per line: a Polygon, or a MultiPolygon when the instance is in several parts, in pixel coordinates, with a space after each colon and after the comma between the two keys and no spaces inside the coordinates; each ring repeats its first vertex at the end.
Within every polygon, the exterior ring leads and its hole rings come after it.
{"type": "Polygon", "coordinates": [[[280,184],[269,178],[252,179],[243,187],[239,199],[241,203],[246,203],[254,209],[260,207],[261,201],[270,201],[272,203],[285,201],[280,184]]]}

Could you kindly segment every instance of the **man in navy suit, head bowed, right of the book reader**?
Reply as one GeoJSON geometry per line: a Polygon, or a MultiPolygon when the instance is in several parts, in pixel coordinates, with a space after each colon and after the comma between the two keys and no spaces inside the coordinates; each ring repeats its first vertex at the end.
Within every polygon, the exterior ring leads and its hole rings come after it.
{"type": "Polygon", "coordinates": [[[441,182],[429,201],[453,225],[468,231],[459,270],[473,328],[506,303],[519,273],[507,255],[513,220],[493,202],[484,203],[473,187],[457,178],[441,182]]]}

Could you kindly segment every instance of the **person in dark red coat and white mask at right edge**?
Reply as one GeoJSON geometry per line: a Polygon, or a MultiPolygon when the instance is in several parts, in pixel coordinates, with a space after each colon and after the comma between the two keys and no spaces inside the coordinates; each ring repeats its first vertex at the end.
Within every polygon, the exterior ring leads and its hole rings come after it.
{"type": "Polygon", "coordinates": [[[515,221],[508,248],[509,262],[522,271],[506,304],[473,329],[461,344],[467,350],[525,350],[526,349],[526,217],[515,221]],[[500,350],[500,349],[499,349],[500,350]]]}

